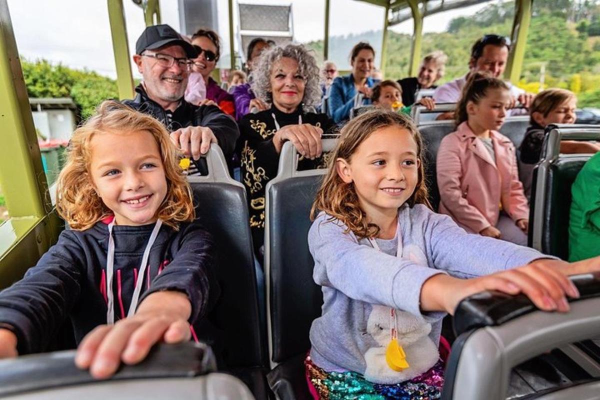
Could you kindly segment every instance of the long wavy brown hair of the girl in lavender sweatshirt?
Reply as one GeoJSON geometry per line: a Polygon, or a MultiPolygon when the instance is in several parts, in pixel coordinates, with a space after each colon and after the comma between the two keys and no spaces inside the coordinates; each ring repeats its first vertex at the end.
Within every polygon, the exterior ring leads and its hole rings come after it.
{"type": "Polygon", "coordinates": [[[332,152],[331,158],[329,158],[328,172],[317,192],[317,197],[310,212],[313,221],[319,212],[324,211],[331,216],[330,221],[334,219],[342,221],[348,227],[347,232],[352,231],[358,237],[377,236],[380,227],[367,222],[367,214],[359,205],[354,184],[346,184],[342,181],[335,169],[335,163],[339,158],[350,162],[358,146],[374,131],[392,126],[409,131],[416,142],[417,158],[421,161],[415,192],[407,200],[407,203],[410,207],[415,204],[425,204],[425,206],[431,208],[424,179],[424,146],[421,134],[419,134],[415,124],[408,116],[382,109],[374,109],[352,119],[341,129],[338,144],[332,152]]]}

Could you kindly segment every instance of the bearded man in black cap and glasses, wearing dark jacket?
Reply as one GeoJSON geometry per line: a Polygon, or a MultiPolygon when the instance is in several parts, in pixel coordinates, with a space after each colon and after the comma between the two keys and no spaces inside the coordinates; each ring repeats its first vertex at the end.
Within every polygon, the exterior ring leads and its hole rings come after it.
{"type": "Polygon", "coordinates": [[[148,26],[136,43],[133,61],[143,76],[136,98],[125,100],[150,114],[171,131],[171,139],[194,160],[217,143],[231,159],[238,125],[214,105],[194,106],[184,100],[194,47],[169,25],[148,26]]]}

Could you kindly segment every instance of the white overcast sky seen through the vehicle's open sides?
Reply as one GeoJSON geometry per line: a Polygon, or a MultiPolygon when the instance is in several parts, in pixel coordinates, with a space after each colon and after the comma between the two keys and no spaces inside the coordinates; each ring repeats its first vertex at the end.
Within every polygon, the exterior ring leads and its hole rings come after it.
{"type": "MultiPolygon", "coordinates": [[[[227,0],[214,1],[218,2],[219,7],[220,34],[227,35],[227,0]]],[[[274,0],[242,2],[290,4],[290,1],[274,0]]],[[[291,3],[296,41],[304,43],[322,39],[325,2],[294,0],[291,3]]],[[[145,27],[143,12],[131,0],[123,0],[123,4],[130,53],[133,53],[137,37],[145,27]]],[[[162,22],[179,29],[178,1],[160,0],[160,5],[162,22]]],[[[473,14],[482,7],[485,4],[427,17],[424,31],[444,31],[452,18],[473,14]]],[[[19,53],[26,59],[33,61],[44,58],[56,64],[61,62],[68,67],[88,68],[106,76],[116,76],[106,0],[8,0],[8,8],[19,53]]],[[[330,35],[377,30],[382,25],[382,7],[353,0],[331,0],[330,35]]],[[[404,22],[392,29],[411,33],[412,22],[404,22]]]]}

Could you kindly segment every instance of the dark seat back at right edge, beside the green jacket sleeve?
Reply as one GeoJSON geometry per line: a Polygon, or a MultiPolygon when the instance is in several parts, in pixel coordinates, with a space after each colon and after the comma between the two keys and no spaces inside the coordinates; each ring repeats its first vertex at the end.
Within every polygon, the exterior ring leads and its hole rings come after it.
{"type": "Polygon", "coordinates": [[[535,167],[529,243],[545,254],[569,258],[571,186],[591,154],[560,154],[561,140],[600,140],[594,125],[549,125],[542,160],[535,167]]]}

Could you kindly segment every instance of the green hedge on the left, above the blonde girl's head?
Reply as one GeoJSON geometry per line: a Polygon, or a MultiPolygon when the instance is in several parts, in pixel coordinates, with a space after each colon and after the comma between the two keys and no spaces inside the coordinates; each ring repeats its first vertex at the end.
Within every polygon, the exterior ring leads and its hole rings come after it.
{"type": "Polygon", "coordinates": [[[119,96],[115,80],[93,71],[52,65],[44,59],[21,59],[21,67],[29,97],[71,97],[83,119],[93,115],[103,100],[119,96]]]}

